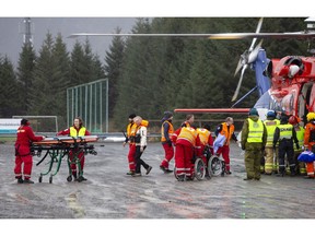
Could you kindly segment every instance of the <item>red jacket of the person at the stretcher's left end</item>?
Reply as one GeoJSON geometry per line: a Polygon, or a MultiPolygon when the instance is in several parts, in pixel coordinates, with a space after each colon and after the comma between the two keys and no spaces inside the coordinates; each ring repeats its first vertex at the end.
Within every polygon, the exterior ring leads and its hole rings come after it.
{"type": "Polygon", "coordinates": [[[36,137],[30,126],[20,126],[15,141],[16,155],[30,155],[31,142],[42,141],[43,139],[42,135],[36,137]]]}

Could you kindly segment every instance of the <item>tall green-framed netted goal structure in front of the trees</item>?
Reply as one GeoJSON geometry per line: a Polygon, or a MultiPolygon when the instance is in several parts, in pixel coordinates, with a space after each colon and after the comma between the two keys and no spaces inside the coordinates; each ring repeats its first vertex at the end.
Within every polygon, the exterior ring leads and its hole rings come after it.
{"type": "Polygon", "coordinates": [[[108,132],[108,79],[67,88],[67,123],[81,117],[93,133],[108,132]]]}

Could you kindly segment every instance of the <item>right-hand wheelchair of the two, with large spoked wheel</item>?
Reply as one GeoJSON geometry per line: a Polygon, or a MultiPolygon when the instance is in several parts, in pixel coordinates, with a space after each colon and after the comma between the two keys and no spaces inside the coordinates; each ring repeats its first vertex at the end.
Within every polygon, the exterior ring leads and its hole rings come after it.
{"type": "Polygon", "coordinates": [[[211,154],[211,146],[206,145],[203,155],[207,158],[207,172],[209,176],[224,176],[225,174],[225,162],[219,154],[211,154]]]}

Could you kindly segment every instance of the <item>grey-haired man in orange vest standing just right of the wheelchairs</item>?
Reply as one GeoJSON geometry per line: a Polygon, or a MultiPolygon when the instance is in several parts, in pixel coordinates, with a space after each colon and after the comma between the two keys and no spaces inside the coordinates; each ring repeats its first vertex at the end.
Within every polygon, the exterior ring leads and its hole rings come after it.
{"type": "Polygon", "coordinates": [[[222,135],[225,135],[225,142],[223,146],[219,148],[218,154],[222,154],[222,157],[225,162],[225,172],[228,175],[231,175],[230,170],[230,141],[233,139],[235,142],[237,142],[237,138],[234,133],[234,125],[233,125],[233,118],[228,117],[225,119],[225,122],[222,122],[220,126],[218,126],[215,130],[215,137],[221,133],[222,135]]]}

